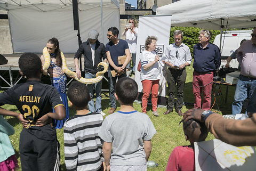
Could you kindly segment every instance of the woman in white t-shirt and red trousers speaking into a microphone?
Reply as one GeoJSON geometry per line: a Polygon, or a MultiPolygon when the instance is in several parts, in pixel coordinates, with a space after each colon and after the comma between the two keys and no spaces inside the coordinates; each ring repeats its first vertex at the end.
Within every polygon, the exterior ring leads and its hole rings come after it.
{"type": "Polygon", "coordinates": [[[142,112],[147,113],[148,98],[151,91],[151,103],[153,115],[159,116],[157,113],[157,94],[159,74],[159,55],[155,52],[157,38],[148,36],[145,42],[145,51],[142,51],[140,56],[141,71],[140,79],[143,86],[142,96],[142,112]]]}

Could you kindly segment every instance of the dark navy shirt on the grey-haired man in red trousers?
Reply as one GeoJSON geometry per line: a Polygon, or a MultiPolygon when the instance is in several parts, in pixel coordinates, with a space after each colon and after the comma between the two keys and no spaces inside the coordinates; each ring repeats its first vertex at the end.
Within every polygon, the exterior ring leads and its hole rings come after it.
{"type": "Polygon", "coordinates": [[[194,46],[194,63],[193,68],[196,72],[210,72],[220,67],[220,50],[219,47],[208,43],[202,48],[201,43],[194,46]]]}

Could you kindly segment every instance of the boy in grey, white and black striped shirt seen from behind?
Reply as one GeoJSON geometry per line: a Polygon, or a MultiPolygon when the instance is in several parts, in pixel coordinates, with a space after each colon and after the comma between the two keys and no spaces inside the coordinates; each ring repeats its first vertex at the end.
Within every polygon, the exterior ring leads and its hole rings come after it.
{"type": "Polygon", "coordinates": [[[98,136],[103,117],[88,110],[91,97],[85,84],[73,82],[68,88],[68,98],[76,115],[64,124],[67,170],[103,170],[105,162],[102,162],[102,142],[98,136]]]}

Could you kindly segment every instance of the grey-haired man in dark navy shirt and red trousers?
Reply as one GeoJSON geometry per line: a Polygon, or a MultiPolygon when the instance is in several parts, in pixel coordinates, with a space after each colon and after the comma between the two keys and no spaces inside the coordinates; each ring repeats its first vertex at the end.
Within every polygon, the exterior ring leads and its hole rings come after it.
{"type": "Polygon", "coordinates": [[[210,30],[202,29],[199,34],[199,43],[194,46],[194,108],[201,108],[201,93],[203,91],[202,109],[209,110],[211,108],[213,71],[220,66],[220,50],[216,45],[209,43],[212,37],[210,30]]]}

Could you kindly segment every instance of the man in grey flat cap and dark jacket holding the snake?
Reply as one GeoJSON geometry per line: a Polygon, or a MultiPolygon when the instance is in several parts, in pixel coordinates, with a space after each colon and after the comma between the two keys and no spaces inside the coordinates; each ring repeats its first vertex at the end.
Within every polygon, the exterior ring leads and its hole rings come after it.
{"type": "MultiPolygon", "coordinates": [[[[105,50],[105,45],[100,43],[98,40],[99,32],[97,30],[90,30],[89,31],[89,38],[86,42],[82,43],[74,57],[74,62],[76,66],[76,76],[78,78],[81,77],[81,71],[78,65],[79,56],[84,54],[84,78],[95,78],[96,73],[98,72],[97,67],[100,62],[107,62],[107,55],[105,50]]],[[[101,85],[102,80],[95,84],[88,84],[87,87],[89,88],[91,101],[88,103],[89,110],[91,112],[101,113],[101,115],[106,115],[101,110],[101,85]],[[95,107],[93,102],[93,94],[95,88],[95,107]]]]}

